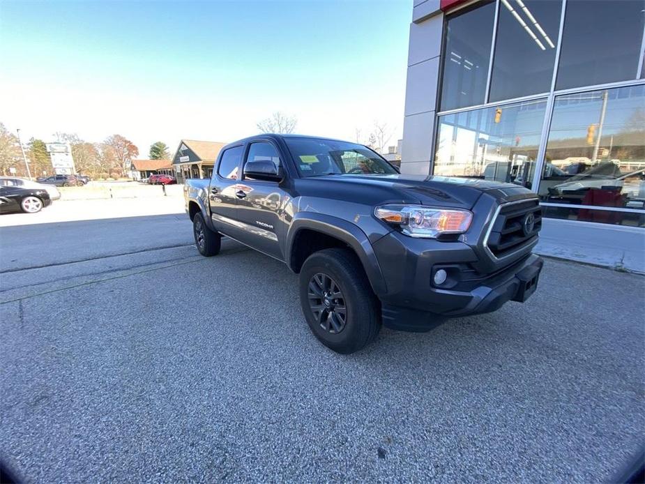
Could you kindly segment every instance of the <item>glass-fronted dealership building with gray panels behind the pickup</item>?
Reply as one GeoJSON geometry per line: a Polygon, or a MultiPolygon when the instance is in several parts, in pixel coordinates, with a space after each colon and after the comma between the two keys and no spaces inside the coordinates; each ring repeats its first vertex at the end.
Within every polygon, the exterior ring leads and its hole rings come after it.
{"type": "Polygon", "coordinates": [[[401,171],[525,186],[555,252],[645,271],[644,45],[643,0],[413,0],[401,171]]]}

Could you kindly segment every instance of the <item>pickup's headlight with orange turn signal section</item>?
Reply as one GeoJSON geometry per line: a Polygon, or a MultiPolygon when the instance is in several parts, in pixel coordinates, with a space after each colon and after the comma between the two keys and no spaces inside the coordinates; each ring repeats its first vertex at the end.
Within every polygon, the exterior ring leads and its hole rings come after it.
{"type": "Polygon", "coordinates": [[[459,209],[430,209],[418,205],[384,205],[374,209],[377,218],[400,227],[411,237],[436,239],[443,234],[462,234],[468,230],[473,213],[459,209]]]}

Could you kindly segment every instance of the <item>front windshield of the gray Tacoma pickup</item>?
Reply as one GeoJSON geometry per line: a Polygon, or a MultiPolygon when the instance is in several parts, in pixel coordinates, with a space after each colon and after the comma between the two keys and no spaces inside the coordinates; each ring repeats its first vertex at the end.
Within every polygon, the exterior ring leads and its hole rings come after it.
{"type": "Polygon", "coordinates": [[[301,176],[394,174],[396,169],[361,144],[321,138],[286,137],[301,176]]]}

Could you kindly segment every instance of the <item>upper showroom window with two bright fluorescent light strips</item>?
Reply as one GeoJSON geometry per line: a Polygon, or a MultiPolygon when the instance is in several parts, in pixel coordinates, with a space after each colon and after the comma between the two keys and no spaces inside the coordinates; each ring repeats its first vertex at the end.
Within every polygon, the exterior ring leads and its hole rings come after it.
{"type": "Polygon", "coordinates": [[[561,0],[501,0],[490,101],[551,89],[561,0]]]}

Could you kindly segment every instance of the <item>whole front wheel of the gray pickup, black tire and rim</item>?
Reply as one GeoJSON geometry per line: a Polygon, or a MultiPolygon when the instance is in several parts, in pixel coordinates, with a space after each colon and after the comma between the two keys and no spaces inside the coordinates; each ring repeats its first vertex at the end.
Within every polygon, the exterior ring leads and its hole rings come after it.
{"type": "Polygon", "coordinates": [[[314,252],[303,264],[299,285],[305,318],[312,333],[326,347],[351,354],[379,334],[379,300],[361,262],[351,250],[333,248],[314,252]],[[326,298],[325,294],[328,294],[326,298]]]}

